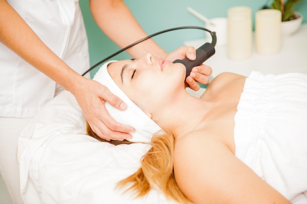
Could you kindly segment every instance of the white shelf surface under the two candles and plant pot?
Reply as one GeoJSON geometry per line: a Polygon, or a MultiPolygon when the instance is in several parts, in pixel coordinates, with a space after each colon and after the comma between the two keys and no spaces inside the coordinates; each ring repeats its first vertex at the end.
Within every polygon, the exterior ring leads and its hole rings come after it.
{"type": "MultiPolygon", "coordinates": [[[[275,55],[260,55],[255,50],[255,37],[253,36],[252,57],[244,61],[228,59],[227,45],[215,46],[215,54],[205,61],[212,68],[214,78],[222,72],[234,72],[248,76],[252,70],[264,74],[280,74],[286,72],[301,72],[307,74],[307,23],[302,24],[300,30],[292,36],[283,36],[281,52],[275,55]]],[[[217,39],[218,40],[218,39],[217,39]]],[[[211,39],[210,39],[211,41],[211,39]]],[[[184,45],[200,47],[206,39],[186,41],[184,45]]]]}

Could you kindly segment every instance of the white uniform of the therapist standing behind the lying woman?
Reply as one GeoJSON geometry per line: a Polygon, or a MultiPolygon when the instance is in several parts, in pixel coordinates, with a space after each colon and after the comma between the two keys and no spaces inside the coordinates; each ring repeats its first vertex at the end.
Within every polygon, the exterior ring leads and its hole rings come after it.
{"type": "MultiPolygon", "coordinates": [[[[51,50],[82,74],[89,68],[86,31],[78,0],[7,0],[51,50]]],[[[57,85],[0,44],[0,175],[15,204],[22,203],[16,145],[21,130],[57,85]]]]}

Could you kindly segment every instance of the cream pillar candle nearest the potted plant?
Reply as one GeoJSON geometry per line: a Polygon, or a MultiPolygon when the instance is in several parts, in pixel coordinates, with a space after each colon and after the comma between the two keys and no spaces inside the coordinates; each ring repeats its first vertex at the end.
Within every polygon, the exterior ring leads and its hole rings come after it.
{"type": "Polygon", "coordinates": [[[281,11],[263,9],[256,12],[256,51],[276,54],[281,50],[281,11]]]}

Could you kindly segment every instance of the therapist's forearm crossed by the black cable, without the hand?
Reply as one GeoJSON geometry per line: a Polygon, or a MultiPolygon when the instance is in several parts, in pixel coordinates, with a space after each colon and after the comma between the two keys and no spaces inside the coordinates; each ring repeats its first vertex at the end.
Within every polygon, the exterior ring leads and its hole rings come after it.
{"type": "MultiPolygon", "coordinates": [[[[90,9],[102,31],[122,48],[147,36],[123,0],[90,0],[90,9]]],[[[152,39],[129,48],[127,52],[134,58],[147,52],[157,57],[167,54],[152,39]]]]}

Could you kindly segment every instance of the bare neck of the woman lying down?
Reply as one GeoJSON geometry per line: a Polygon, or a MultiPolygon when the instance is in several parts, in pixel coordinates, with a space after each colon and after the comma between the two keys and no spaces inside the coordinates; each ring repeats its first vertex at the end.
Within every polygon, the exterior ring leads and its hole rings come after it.
{"type": "Polygon", "coordinates": [[[178,138],[203,125],[209,107],[209,102],[184,91],[177,93],[153,119],[163,130],[173,133],[178,138]]]}

